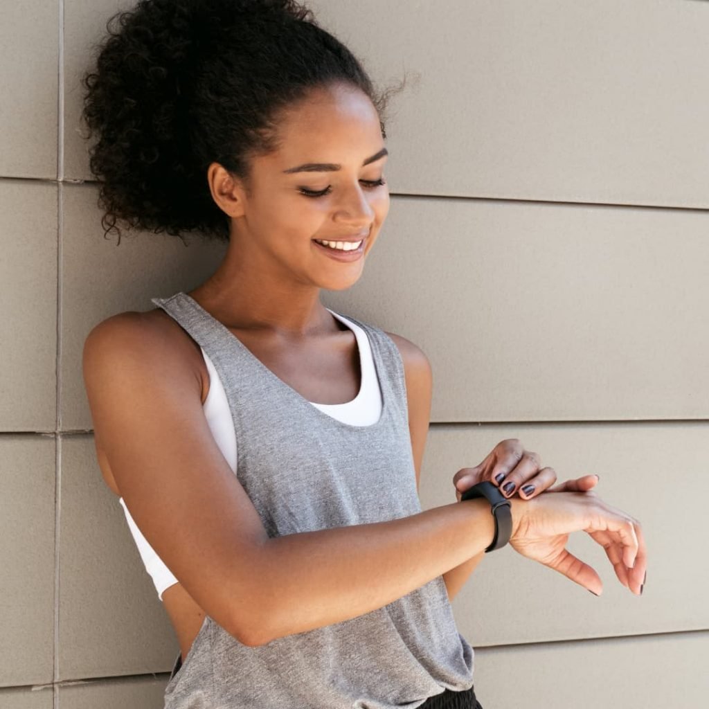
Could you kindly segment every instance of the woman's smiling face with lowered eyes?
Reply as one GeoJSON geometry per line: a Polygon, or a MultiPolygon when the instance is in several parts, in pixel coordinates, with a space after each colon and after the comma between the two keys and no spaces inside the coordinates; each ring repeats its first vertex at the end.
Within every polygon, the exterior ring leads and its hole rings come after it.
{"type": "Polygon", "coordinates": [[[252,161],[250,193],[237,184],[220,203],[233,217],[233,261],[265,283],[346,289],[389,212],[379,115],[361,91],[335,86],[286,113],[279,138],[277,152],[252,161]],[[347,252],[316,240],[362,244],[347,252]]]}

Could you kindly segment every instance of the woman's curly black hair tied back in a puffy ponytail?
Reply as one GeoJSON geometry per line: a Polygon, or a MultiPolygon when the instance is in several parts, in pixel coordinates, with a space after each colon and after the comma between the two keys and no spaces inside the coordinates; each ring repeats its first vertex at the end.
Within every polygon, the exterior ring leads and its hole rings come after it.
{"type": "Polygon", "coordinates": [[[218,162],[248,189],[250,160],[278,147],[279,111],[333,83],[372,100],[386,138],[389,95],[295,0],[139,0],[106,23],[82,76],[91,174],[104,237],[117,220],[180,237],[228,241],[229,217],[211,196],[218,162]],[[114,23],[118,24],[114,28],[114,23]]]}

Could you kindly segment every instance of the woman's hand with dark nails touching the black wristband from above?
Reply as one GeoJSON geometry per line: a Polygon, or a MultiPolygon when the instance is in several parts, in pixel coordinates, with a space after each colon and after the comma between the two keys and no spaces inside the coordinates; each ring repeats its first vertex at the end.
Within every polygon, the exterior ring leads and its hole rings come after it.
{"type": "Polygon", "coordinates": [[[598,484],[597,475],[584,475],[552,488],[551,486],[557,481],[557,473],[553,468],[540,467],[541,462],[539,455],[525,450],[518,438],[503,440],[493,448],[483,462],[474,468],[461,468],[453,476],[457,501],[460,502],[462,493],[468,488],[484,480],[489,480],[493,485],[498,486],[506,498],[516,494],[523,500],[539,496],[545,491],[586,492],[598,484]]]}

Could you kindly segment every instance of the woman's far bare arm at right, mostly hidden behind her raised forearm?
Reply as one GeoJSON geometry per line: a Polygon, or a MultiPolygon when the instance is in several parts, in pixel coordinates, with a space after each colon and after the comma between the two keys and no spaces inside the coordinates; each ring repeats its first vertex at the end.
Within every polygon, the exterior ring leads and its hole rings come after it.
{"type": "MultiPolygon", "coordinates": [[[[421,462],[430,423],[433,373],[428,357],[410,340],[400,335],[386,333],[396,342],[404,364],[406,377],[406,398],[408,401],[408,430],[411,434],[411,450],[416,471],[416,490],[419,490],[421,462]]],[[[452,601],[460,591],[468,576],[481,562],[485,552],[476,554],[466,562],[443,574],[448,599],[452,601]]]]}

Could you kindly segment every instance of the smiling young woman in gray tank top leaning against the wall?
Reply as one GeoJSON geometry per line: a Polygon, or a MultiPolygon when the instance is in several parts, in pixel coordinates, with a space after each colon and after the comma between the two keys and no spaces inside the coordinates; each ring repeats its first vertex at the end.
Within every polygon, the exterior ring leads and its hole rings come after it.
{"type": "Polygon", "coordinates": [[[389,211],[386,95],[295,1],[115,17],[85,77],[104,227],[228,242],[202,284],[84,345],[101,471],[181,647],[166,709],[480,707],[450,599],[496,520],[461,494],[502,489],[510,545],[594,593],[569,533],[640,593],[639,523],[595,476],[552,489],[516,439],[422,512],[428,359],[320,303],[357,282],[389,211]]]}

